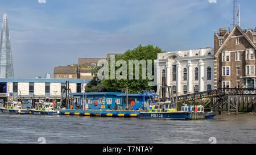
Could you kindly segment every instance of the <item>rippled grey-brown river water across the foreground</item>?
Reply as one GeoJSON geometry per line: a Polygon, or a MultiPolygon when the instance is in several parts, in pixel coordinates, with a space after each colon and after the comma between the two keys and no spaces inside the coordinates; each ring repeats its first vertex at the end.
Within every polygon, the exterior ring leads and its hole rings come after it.
{"type": "Polygon", "coordinates": [[[256,143],[256,114],[155,120],[0,113],[0,143],[256,143]]]}

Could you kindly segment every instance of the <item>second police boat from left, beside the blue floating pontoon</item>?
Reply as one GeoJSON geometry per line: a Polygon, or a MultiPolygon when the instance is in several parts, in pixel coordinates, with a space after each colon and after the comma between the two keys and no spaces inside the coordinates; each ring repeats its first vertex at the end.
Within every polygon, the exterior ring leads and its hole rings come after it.
{"type": "Polygon", "coordinates": [[[54,110],[51,102],[37,102],[35,108],[30,111],[33,115],[60,115],[60,111],[54,110]]]}

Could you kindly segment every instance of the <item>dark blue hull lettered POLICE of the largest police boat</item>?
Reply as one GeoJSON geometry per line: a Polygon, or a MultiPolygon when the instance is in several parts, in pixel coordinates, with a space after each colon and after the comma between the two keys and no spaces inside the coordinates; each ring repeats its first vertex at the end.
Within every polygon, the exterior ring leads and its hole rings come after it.
{"type": "Polygon", "coordinates": [[[187,119],[189,112],[141,112],[139,118],[147,119],[187,119]]]}

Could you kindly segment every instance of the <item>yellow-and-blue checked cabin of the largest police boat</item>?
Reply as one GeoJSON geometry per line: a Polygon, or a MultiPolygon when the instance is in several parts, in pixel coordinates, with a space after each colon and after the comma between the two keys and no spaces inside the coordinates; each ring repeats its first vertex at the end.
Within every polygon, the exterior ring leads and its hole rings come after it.
{"type": "Polygon", "coordinates": [[[176,112],[176,103],[151,103],[149,112],[176,112]]]}

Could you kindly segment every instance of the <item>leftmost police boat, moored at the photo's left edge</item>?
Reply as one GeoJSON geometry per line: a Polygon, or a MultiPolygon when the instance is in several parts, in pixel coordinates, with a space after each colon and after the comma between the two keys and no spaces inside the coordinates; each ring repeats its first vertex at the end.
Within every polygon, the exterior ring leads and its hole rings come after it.
{"type": "Polygon", "coordinates": [[[4,107],[1,107],[0,110],[8,114],[30,114],[30,111],[23,109],[22,103],[18,101],[5,102],[4,107]]]}

